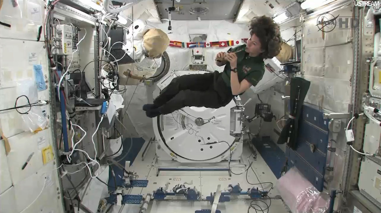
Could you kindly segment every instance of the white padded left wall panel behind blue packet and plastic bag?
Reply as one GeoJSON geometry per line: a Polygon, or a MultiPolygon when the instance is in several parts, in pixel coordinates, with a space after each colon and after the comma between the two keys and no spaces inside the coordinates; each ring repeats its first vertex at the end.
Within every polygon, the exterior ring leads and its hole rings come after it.
{"type": "MultiPolygon", "coordinates": [[[[16,96],[10,94],[15,94],[17,81],[21,79],[35,81],[34,64],[41,64],[43,74],[47,77],[46,80],[50,79],[47,68],[46,49],[43,48],[42,42],[2,38],[0,39],[0,56],[0,100],[2,100],[0,102],[0,109],[14,107],[16,96]],[[20,51],[21,49],[22,51],[20,51]]],[[[49,83],[46,83],[46,85],[49,86],[49,83]]],[[[49,100],[49,91],[46,89],[38,92],[38,98],[40,100],[49,100]]],[[[41,108],[49,114],[49,107],[42,106],[41,108]]],[[[16,110],[1,112],[0,122],[6,137],[11,137],[24,131],[21,126],[21,115],[16,110]]]]}

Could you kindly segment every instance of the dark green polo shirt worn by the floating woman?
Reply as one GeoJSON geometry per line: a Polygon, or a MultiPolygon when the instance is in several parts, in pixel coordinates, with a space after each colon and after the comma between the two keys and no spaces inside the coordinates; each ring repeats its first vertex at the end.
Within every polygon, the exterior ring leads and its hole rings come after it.
{"type": "MultiPolygon", "coordinates": [[[[245,49],[246,45],[240,45],[232,49],[231,52],[239,51],[245,49]]],[[[250,57],[249,54],[245,51],[237,52],[237,74],[238,81],[241,83],[243,79],[246,79],[253,86],[256,86],[258,82],[262,79],[264,73],[264,62],[263,59],[259,56],[250,57]]],[[[227,62],[222,74],[226,85],[230,87],[230,73],[231,66],[227,62]]]]}

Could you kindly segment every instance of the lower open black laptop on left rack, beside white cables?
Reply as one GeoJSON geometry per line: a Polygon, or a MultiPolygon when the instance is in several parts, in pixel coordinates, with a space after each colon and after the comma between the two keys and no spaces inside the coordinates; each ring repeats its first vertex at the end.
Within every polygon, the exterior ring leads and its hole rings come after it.
{"type": "Polygon", "coordinates": [[[89,84],[86,81],[85,73],[83,72],[75,72],[70,74],[70,79],[73,80],[75,87],[75,106],[101,106],[106,99],[95,99],[88,98],[88,94],[92,94],[93,91],[90,89],[89,84]],[[82,75],[82,79],[81,79],[82,75]]]}

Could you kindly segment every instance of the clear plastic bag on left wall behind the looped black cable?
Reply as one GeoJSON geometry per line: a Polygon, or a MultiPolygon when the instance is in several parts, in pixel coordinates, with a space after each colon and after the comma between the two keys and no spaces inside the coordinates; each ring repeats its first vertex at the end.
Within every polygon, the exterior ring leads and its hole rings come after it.
{"type": "MultiPolygon", "coordinates": [[[[19,81],[17,83],[17,103],[16,106],[35,104],[38,102],[37,86],[32,80],[19,81]]],[[[41,106],[30,106],[17,109],[21,115],[23,130],[39,132],[45,129],[48,121],[46,120],[41,106]]]]}

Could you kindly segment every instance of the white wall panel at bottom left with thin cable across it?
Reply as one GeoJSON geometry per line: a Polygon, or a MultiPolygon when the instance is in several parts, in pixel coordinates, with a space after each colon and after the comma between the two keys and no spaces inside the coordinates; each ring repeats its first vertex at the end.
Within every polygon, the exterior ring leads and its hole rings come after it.
{"type": "Polygon", "coordinates": [[[43,188],[45,177],[50,176],[38,199],[24,213],[54,212],[61,213],[61,194],[58,194],[59,184],[56,178],[57,170],[54,170],[53,162],[46,164],[43,168],[34,172],[28,178],[14,185],[17,212],[24,210],[32,203],[43,188]],[[54,171],[53,171],[54,170],[54,171]]]}

